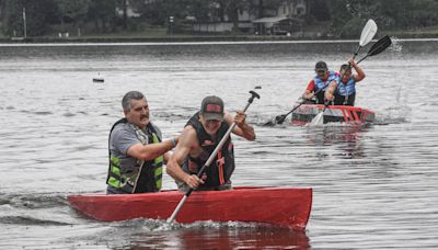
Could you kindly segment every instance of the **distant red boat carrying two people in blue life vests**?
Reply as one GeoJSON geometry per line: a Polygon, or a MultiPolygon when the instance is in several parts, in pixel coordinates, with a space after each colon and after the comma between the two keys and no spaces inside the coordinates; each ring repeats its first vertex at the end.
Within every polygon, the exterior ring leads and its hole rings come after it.
{"type": "MultiPolygon", "coordinates": [[[[302,104],[292,112],[291,123],[304,125],[324,110],[322,104],[302,104]]],[[[358,106],[328,105],[324,111],[324,123],[372,123],[374,112],[358,106]]]]}

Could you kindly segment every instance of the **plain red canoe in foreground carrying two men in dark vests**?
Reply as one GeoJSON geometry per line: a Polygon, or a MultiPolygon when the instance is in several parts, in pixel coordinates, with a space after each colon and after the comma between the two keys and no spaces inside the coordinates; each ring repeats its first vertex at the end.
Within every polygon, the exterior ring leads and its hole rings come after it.
{"type": "MultiPolygon", "coordinates": [[[[184,196],[178,191],[142,194],[70,195],[70,205],[104,221],[134,218],[166,219],[184,196]]],[[[312,206],[310,188],[234,188],[193,192],[176,216],[178,223],[197,220],[266,223],[302,230],[312,206]]]]}

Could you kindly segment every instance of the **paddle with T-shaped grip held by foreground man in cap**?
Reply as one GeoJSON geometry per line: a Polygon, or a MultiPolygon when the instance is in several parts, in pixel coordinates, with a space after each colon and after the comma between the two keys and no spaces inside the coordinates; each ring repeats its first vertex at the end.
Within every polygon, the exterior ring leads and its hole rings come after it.
{"type": "MultiPolygon", "coordinates": [[[[246,106],[245,109],[243,109],[243,112],[245,112],[247,110],[247,107],[251,105],[251,103],[253,103],[254,98],[260,99],[260,95],[255,92],[255,91],[250,91],[251,93],[251,98],[247,100],[246,106]]],[[[199,172],[198,172],[198,178],[200,178],[204,173],[204,170],[211,164],[212,160],[215,159],[216,155],[218,154],[219,149],[222,148],[223,144],[226,143],[226,140],[228,139],[228,136],[231,134],[232,129],[234,129],[235,127],[235,123],[232,123],[230,128],[228,128],[227,133],[223,135],[222,139],[220,139],[218,146],[216,146],[215,150],[211,152],[210,157],[208,158],[207,162],[205,162],[205,164],[203,166],[203,168],[200,168],[199,172]]],[[[187,200],[188,196],[191,196],[193,192],[193,189],[189,189],[184,197],[180,201],[178,205],[176,206],[175,211],[172,213],[171,217],[168,219],[168,223],[173,223],[173,220],[175,219],[177,213],[180,212],[181,207],[184,205],[185,201],[187,200]]]]}

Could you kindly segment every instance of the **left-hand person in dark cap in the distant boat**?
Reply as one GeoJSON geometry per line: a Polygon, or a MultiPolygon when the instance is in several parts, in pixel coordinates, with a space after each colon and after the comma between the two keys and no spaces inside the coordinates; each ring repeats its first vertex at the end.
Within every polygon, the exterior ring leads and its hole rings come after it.
{"type": "Polygon", "coordinates": [[[324,91],[333,82],[336,83],[338,77],[333,70],[328,70],[325,61],[318,61],[315,65],[316,75],[309,81],[308,88],[302,94],[304,103],[324,104],[324,91]]]}

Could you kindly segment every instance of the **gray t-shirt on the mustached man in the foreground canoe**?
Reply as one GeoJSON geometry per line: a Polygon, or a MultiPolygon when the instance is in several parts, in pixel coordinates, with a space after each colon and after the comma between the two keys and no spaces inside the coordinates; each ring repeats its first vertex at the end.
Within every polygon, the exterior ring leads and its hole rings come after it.
{"type": "MultiPolygon", "coordinates": [[[[160,128],[152,124],[153,129],[157,132],[157,136],[161,139],[162,134],[160,128]]],[[[148,133],[146,133],[148,135],[148,133]]],[[[136,168],[137,159],[127,155],[128,149],[136,145],[141,144],[136,135],[136,130],[132,126],[127,123],[117,124],[110,136],[110,150],[113,157],[120,160],[120,168],[125,171],[134,170],[136,168]]]]}

